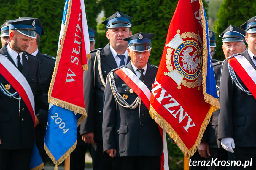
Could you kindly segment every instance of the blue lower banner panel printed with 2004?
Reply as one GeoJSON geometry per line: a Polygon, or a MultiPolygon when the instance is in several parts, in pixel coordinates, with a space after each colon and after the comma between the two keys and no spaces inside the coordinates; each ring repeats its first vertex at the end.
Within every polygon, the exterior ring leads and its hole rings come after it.
{"type": "Polygon", "coordinates": [[[57,165],[65,159],[60,159],[61,157],[69,155],[66,153],[70,148],[75,149],[76,140],[77,116],[73,111],[52,105],[48,113],[44,143],[57,165]]]}

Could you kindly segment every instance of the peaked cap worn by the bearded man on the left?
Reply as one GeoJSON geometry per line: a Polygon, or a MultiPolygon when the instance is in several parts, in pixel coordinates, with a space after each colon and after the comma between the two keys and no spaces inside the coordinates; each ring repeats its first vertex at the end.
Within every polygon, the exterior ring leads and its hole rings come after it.
{"type": "Polygon", "coordinates": [[[8,20],[9,29],[17,30],[19,33],[31,38],[36,38],[35,19],[34,18],[18,18],[16,20],[8,20]]]}

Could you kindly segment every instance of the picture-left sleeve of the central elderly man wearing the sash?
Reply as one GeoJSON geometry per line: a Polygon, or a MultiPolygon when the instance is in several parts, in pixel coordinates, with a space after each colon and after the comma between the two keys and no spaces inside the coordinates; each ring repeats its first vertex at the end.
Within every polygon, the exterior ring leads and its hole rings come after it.
{"type": "MultiPolygon", "coordinates": [[[[108,75],[109,76],[109,75],[108,75]]],[[[102,125],[102,134],[103,134],[103,151],[109,149],[116,149],[115,143],[115,119],[116,119],[116,103],[113,96],[110,82],[107,81],[106,88],[104,90],[104,95],[106,100],[104,101],[103,108],[103,125],[102,125]]]]}

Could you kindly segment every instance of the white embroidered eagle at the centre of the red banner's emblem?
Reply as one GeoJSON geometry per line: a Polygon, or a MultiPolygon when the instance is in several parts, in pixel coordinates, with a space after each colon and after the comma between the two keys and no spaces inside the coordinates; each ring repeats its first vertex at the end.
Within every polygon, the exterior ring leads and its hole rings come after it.
{"type": "Polygon", "coordinates": [[[182,68],[184,70],[188,70],[189,72],[195,72],[197,70],[197,66],[199,64],[199,59],[195,58],[196,54],[198,53],[195,51],[192,56],[189,55],[190,52],[192,52],[192,47],[188,47],[187,49],[183,50],[182,55],[180,56],[182,58],[183,66],[182,68]],[[195,58],[195,62],[193,59],[195,58]]]}

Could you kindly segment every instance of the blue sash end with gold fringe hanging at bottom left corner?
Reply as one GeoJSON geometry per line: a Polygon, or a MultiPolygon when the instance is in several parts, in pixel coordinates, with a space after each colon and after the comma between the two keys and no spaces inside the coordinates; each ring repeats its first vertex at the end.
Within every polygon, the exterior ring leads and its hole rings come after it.
{"type": "Polygon", "coordinates": [[[32,157],[29,164],[30,170],[39,170],[44,168],[44,163],[36,146],[36,142],[34,142],[34,148],[32,150],[32,157]]]}

